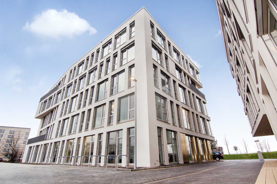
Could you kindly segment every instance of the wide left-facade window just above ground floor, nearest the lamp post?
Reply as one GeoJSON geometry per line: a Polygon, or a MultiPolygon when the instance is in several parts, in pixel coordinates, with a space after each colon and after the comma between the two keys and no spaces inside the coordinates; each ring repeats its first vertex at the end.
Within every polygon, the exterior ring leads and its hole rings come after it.
{"type": "Polygon", "coordinates": [[[118,103],[118,122],[135,118],[135,95],[130,94],[119,98],[118,103]]]}

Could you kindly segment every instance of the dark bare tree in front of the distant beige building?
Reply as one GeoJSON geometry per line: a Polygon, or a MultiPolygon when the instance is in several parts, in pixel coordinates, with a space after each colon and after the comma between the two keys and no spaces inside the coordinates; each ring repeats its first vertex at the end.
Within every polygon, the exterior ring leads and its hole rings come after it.
{"type": "MultiPolygon", "coordinates": [[[[21,131],[16,131],[7,136],[7,140],[0,145],[2,153],[5,155],[10,162],[15,162],[20,159],[23,154],[22,145],[20,145],[21,131]],[[20,147],[21,146],[21,147],[20,147]]],[[[1,143],[0,143],[1,144],[1,143]]]]}

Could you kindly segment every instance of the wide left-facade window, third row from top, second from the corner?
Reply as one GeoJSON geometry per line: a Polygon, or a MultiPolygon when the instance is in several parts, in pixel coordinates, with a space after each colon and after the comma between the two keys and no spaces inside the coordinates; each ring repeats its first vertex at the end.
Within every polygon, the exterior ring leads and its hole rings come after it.
{"type": "Polygon", "coordinates": [[[110,93],[111,95],[119,93],[120,91],[124,90],[124,78],[125,78],[124,70],[112,76],[111,93],[110,93]]]}

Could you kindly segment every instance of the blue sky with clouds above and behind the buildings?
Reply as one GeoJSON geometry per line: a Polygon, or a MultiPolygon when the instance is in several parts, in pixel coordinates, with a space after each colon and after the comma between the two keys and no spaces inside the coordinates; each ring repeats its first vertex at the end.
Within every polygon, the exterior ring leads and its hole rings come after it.
{"type": "Polygon", "coordinates": [[[274,136],[251,135],[226,60],[215,1],[0,0],[0,4],[0,125],[31,128],[29,138],[35,137],[39,99],[73,63],[144,6],[179,48],[201,66],[201,91],[207,99],[214,136],[225,153],[224,134],[230,140],[230,153],[233,146],[243,150],[242,138],[250,152],[257,151],[254,140],[258,138],[268,138],[276,151],[274,136]],[[53,17],[56,24],[39,26],[53,17]]]}

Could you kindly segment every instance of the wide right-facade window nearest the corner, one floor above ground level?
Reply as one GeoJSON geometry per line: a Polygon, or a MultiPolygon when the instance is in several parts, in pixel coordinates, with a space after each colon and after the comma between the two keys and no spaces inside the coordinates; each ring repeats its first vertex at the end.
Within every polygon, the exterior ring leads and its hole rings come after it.
{"type": "Polygon", "coordinates": [[[166,98],[155,94],[157,119],[167,122],[166,98]]]}

